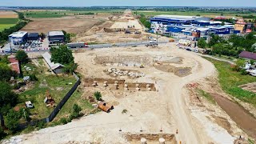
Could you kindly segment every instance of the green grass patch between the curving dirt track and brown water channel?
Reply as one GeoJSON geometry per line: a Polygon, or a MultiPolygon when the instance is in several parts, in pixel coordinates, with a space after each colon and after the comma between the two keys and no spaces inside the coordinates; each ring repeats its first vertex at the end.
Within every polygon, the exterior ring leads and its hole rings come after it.
{"type": "Polygon", "coordinates": [[[242,75],[239,72],[231,70],[230,64],[227,62],[217,61],[212,58],[206,59],[212,62],[218,70],[218,79],[222,90],[243,102],[248,102],[256,106],[256,94],[238,87],[250,82],[256,82],[255,77],[242,75]]]}

